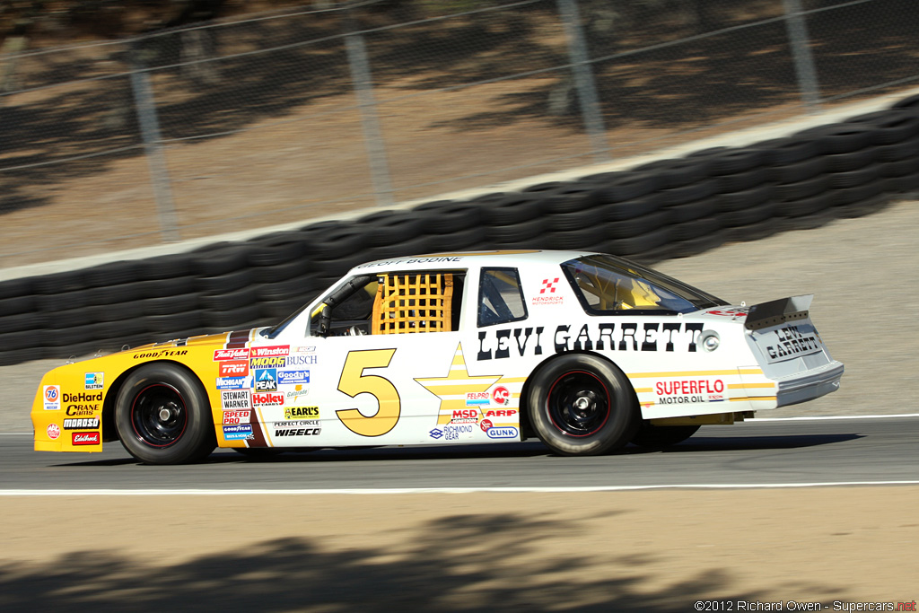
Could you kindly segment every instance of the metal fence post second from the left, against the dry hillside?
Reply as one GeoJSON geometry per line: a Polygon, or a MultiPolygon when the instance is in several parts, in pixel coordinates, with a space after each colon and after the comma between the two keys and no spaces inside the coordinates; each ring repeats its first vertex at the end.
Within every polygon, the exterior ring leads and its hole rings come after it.
{"type": "MultiPolygon", "coordinates": [[[[354,21],[352,22],[354,23],[354,21]]],[[[377,118],[377,103],[373,97],[373,81],[370,78],[370,64],[367,60],[367,49],[360,32],[349,32],[345,36],[347,62],[354,80],[357,94],[357,107],[360,109],[360,125],[364,131],[364,143],[367,146],[367,157],[370,165],[370,179],[377,198],[377,206],[392,205],[392,184],[390,165],[386,159],[386,146],[380,131],[380,120],[377,118]]]]}

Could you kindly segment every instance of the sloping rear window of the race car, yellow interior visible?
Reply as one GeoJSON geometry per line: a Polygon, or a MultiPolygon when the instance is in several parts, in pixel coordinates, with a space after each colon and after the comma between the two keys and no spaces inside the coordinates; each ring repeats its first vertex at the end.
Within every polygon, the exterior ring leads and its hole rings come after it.
{"type": "Polygon", "coordinates": [[[562,264],[591,314],[693,312],[727,302],[615,255],[584,255],[562,264]]]}

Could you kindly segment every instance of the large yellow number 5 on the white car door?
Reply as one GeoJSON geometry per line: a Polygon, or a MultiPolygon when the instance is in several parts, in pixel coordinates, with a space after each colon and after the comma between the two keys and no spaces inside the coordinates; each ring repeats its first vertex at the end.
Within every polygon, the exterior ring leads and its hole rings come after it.
{"type": "Polygon", "coordinates": [[[338,390],[354,398],[359,393],[369,393],[377,399],[380,409],[368,417],[357,409],[335,411],[348,430],[361,437],[380,437],[395,427],[402,413],[399,392],[391,381],[378,375],[365,375],[365,369],[383,369],[390,365],[395,349],[350,351],[345,358],[338,390]]]}

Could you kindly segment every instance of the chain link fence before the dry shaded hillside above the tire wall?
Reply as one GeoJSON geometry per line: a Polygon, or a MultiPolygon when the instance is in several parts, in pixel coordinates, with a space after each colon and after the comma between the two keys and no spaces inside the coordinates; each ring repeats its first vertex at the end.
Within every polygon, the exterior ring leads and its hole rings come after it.
{"type": "MultiPolygon", "coordinates": [[[[425,0],[0,56],[0,266],[645,153],[919,81],[912,0],[425,0]]],[[[11,51],[12,50],[12,51],[11,51]]]]}

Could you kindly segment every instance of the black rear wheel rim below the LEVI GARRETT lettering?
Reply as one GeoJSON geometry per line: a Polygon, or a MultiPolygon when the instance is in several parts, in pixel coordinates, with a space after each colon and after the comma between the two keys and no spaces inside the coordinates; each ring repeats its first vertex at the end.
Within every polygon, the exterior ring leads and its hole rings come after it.
{"type": "Polygon", "coordinates": [[[609,391],[596,375],[567,372],[549,390],[549,418],[568,437],[596,434],[609,419],[609,391]]]}

